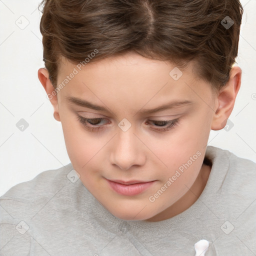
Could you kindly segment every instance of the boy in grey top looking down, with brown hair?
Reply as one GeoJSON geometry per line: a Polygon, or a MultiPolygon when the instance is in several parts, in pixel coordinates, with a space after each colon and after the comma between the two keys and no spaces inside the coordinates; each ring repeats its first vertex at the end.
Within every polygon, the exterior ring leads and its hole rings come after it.
{"type": "Polygon", "coordinates": [[[0,255],[255,255],[256,163],[207,146],[241,83],[240,2],[41,4],[70,163],[0,197],[0,255]]]}

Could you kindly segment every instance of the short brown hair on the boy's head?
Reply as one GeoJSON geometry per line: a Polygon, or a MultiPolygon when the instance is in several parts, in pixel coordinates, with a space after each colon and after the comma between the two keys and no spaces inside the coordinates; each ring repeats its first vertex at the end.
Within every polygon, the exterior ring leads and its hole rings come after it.
{"type": "Polygon", "coordinates": [[[90,61],[128,51],[180,68],[195,60],[196,75],[216,89],[228,81],[237,56],[243,13],[239,0],[42,0],[39,7],[42,4],[43,60],[55,88],[61,55],[78,63],[95,49],[98,53],[90,61]],[[227,21],[233,24],[224,26],[227,21]]]}

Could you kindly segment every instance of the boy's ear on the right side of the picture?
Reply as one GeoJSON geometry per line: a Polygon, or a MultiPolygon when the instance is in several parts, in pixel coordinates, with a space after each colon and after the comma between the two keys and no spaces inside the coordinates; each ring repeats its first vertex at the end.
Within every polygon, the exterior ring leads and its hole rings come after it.
{"type": "Polygon", "coordinates": [[[241,85],[241,72],[240,67],[233,66],[229,73],[229,80],[218,92],[218,108],[212,118],[212,130],[220,130],[225,127],[227,119],[233,110],[235,98],[241,85]]]}

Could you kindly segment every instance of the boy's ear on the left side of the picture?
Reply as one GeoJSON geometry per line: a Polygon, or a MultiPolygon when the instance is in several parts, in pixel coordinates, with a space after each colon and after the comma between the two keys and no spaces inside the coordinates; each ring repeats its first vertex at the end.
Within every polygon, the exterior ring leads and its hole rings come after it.
{"type": "Polygon", "coordinates": [[[55,120],[60,121],[60,116],[58,112],[58,101],[57,93],[54,90],[54,87],[49,79],[49,72],[46,68],[39,68],[37,72],[38,78],[47,93],[47,97],[50,100],[50,103],[53,106],[53,116],[55,120]]]}

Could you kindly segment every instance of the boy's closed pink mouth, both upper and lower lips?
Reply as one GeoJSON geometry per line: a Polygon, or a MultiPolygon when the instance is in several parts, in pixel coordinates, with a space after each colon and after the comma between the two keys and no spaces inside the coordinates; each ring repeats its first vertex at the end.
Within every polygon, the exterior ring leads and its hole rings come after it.
{"type": "Polygon", "coordinates": [[[112,190],[117,192],[121,195],[136,195],[139,193],[142,193],[147,188],[149,188],[156,180],[152,181],[141,181],[141,180],[129,180],[129,181],[123,181],[123,180],[109,180],[106,179],[109,186],[112,190]]]}

